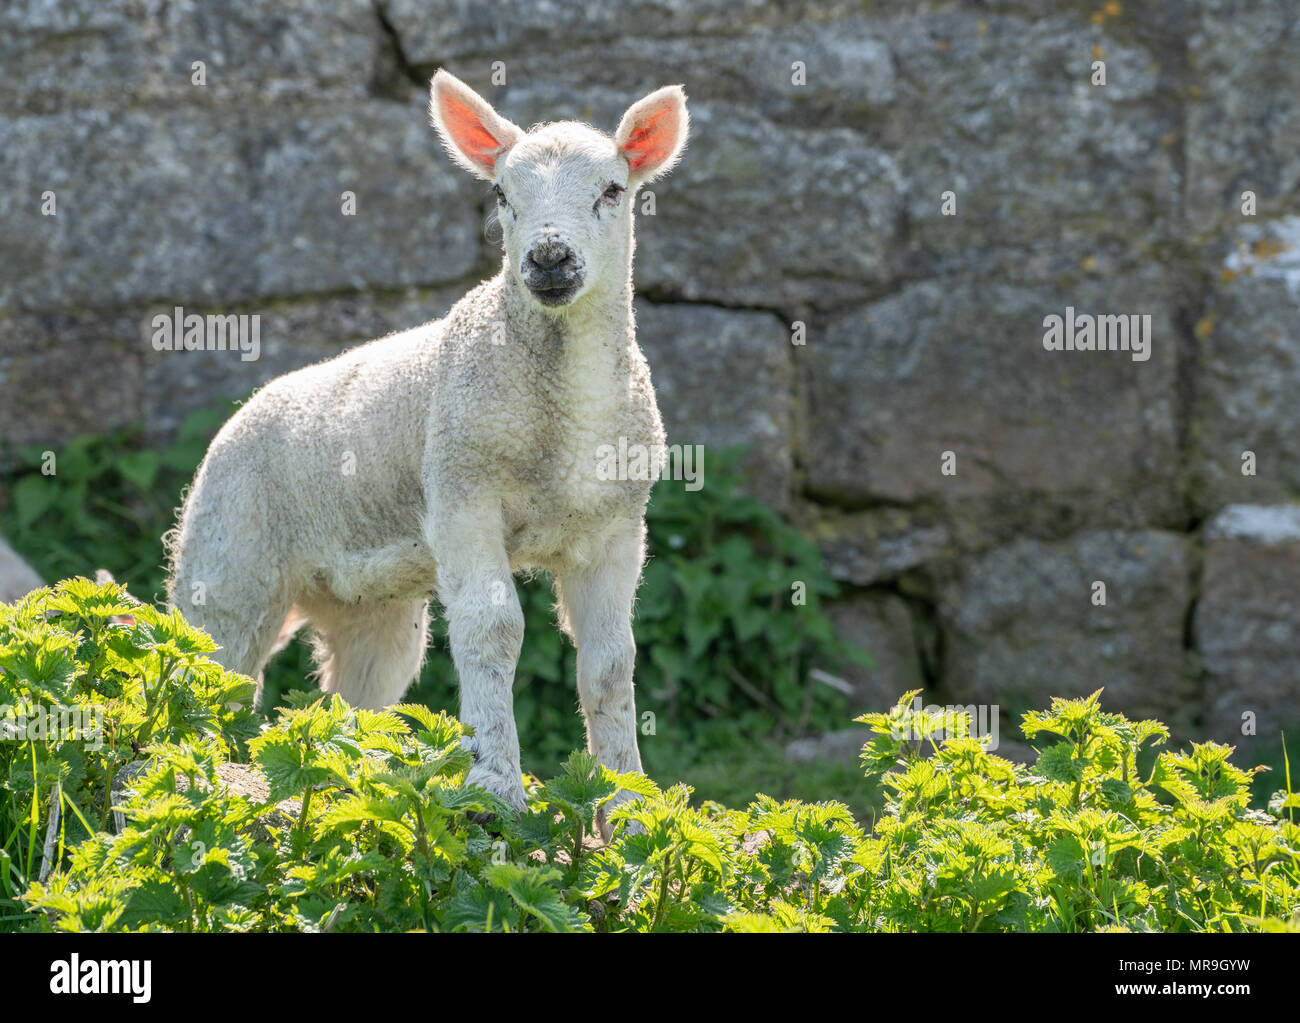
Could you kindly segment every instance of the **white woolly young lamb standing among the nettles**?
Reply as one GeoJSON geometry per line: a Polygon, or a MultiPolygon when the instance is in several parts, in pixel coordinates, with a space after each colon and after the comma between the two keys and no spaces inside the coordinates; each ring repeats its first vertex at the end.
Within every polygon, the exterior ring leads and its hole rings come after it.
{"type": "Polygon", "coordinates": [[[601,478],[597,452],[664,445],[632,313],[633,199],[676,164],[689,117],[667,86],[612,138],[524,131],[447,71],[430,91],[451,159],[491,182],[500,272],[445,318],[254,395],[166,537],[168,598],[254,677],[309,623],[321,688],[380,708],[420,669],[436,595],[476,729],[469,781],[521,809],[515,572],[556,581],[588,747],[641,771],[630,619],[653,480],[601,478]]]}

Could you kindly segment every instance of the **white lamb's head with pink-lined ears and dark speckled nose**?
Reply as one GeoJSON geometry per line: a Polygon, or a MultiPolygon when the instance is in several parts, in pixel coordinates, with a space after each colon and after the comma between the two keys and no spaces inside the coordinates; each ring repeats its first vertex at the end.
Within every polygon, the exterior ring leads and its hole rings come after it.
{"type": "Polygon", "coordinates": [[[636,191],[686,142],[681,86],[634,103],[612,138],[572,121],[524,131],[441,70],[429,109],[451,157],[491,182],[507,265],[537,303],[558,311],[627,283],[636,191]]]}

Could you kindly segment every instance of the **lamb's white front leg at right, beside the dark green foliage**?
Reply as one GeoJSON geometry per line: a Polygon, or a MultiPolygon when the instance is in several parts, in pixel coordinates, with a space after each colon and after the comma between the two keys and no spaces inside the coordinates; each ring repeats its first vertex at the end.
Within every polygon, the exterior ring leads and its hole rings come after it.
{"type": "MultiPolygon", "coordinates": [[[[636,642],[632,602],[645,556],[645,524],[621,525],[592,563],[564,572],[559,597],[577,646],[577,692],[586,745],[611,771],[640,772],[637,708],[632,692],[636,642]]],[[[632,798],[621,792],[606,809],[632,798]]],[[[610,828],[601,815],[606,841],[610,828]]]]}

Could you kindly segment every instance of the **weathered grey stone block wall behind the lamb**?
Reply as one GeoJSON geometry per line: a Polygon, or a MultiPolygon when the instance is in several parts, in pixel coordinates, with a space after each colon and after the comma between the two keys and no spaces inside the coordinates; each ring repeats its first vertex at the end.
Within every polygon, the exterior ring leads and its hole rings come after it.
{"type": "Polygon", "coordinates": [[[671,439],[749,443],[823,545],[864,705],[1300,719],[1290,0],[6,4],[0,434],[166,432],[491,273],[437,66],[524,125],[685,83],[642,342],[671,439]],[[263,357],[155,352],[176,304],[260,315],[263,357]],[[1150,357],[1044,350],[1067,305],[1149,315],[1150,357]]]}

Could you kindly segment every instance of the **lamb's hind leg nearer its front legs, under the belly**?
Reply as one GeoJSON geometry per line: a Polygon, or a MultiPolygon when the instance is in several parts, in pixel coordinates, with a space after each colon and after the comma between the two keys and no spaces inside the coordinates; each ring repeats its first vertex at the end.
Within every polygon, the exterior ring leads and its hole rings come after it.
{"type": "Polygon", "coordinates": [[[367,710],[400,702],[424,663],[428,601],[346,604],[317,598],[304,611],[316,632],[322,690],[367,710]]]}

